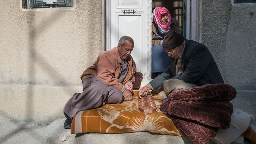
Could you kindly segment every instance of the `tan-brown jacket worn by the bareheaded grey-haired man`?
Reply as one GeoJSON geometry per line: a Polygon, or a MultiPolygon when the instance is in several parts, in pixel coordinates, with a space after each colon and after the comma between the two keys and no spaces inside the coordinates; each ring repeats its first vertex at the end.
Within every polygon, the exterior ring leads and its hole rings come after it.
{"type": "MultiPolygon", "coordinates": [[[[131,80],[132,83],[135,81],[134,74],[136,72],[136,68],[132,62],[132,56],[128,58],[128,66],[128,73],[124,78],[123,84],[129,80],[131,80]]],[[[119,82],[121,72],[121,58],[119,56],[117,47],[114,47],[111,50],[107,50],[100,54],[93,65],[83,72],[81,79],[83,80],[88,75],[98,76],[104,81],[105,84],[114,86],[121,90],[123,87],[123,85],[119,82]]]]}

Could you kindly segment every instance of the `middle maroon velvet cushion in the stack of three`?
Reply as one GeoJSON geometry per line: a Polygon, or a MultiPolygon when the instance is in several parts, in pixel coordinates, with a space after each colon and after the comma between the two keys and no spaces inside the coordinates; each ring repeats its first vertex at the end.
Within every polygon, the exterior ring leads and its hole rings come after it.
{"type": "Polygon", "coordinates": [[[230,126],[233,106],[228,101],[169,101],[167,113],[215,128],[230,126]]]}

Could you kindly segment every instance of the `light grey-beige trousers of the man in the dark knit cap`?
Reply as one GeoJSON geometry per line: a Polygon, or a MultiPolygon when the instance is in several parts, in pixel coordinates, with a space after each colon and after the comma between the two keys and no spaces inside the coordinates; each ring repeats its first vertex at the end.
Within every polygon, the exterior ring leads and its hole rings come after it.
{"type": "Polygon", "coordinates": [[[163,86],[158,89],[158,95],[167,97],[171,92],[178,92],[183,89],[190,89],[194,87],[197,87],[197,85],[193,83],[185,83],[179,79],[169,79],[163,81],[163,86]]]}

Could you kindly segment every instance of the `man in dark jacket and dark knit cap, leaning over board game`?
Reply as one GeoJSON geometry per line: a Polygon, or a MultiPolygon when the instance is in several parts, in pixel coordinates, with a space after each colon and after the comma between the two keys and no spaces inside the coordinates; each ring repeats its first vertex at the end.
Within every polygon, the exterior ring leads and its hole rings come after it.
{"type": "Polygon", "coordinates": [[[167,32],[163,50],[173,57],[169,67],[139,91],[139,97],[163,86],[163,95],[211,83],[224,83],[221,73],[205,45],[185,38],[174,31],[167,32]]]}

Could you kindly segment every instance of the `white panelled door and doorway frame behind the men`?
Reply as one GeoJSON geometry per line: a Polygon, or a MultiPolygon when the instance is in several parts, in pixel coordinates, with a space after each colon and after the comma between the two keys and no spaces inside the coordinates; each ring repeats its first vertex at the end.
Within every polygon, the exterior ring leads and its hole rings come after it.
{"type": "MultiPolygon", "coordinates": [[[[150,45],[152,37],[150,33],[152,31],[151,14],[155,7],[166,7],[170,11],[171,17],[178,20],[183,36],[188,40],[197,41],[198,20],[200,20],[198,17],[199,0],[102,0],[102,2],[106,2],[106,50],[116,47],[121,36],[132,37],[135,43],[132,57],[137,71],[143,74],[142,86],[154,78],[152,77],[154,70],[152,71],[153,58],[152,45],[150,45]],[[148,7],[150,4],[152,6],[148,7]],[[132,10],[134,13],[124,13],[124,10],[132,10]]],[[[104,7],[102,7],[102,11],[105,11],[104,7]]],[[[158,56],[154,56],[158,58],[158,56]]],[[[165,64],[168,63],[165,62],[165,64]]],[[[155,64],[160,65],[161,63],[156,61],[155,64]]]]}

